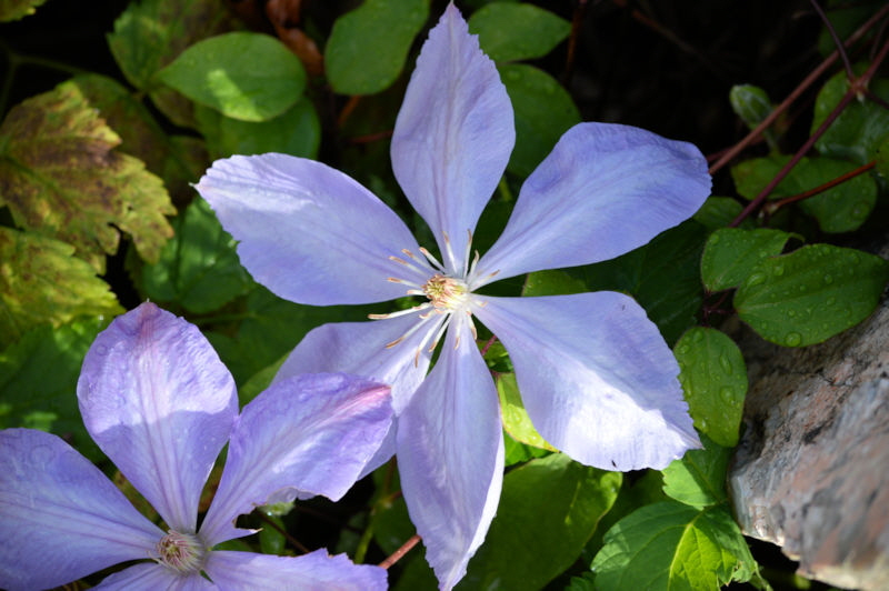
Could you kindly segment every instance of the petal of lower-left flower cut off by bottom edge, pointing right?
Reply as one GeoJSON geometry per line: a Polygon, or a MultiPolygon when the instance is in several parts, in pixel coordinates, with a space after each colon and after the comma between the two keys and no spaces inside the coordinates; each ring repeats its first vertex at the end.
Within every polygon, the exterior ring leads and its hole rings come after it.
{"type": "Polygon", "coordinates": [[[274,557],[251,552],[212,552],[207,574],[220,589],[299,589],[300,591],[384,590],[386,570],[353,564],[346,554],[316,550],[301,557],[274,557]]]}

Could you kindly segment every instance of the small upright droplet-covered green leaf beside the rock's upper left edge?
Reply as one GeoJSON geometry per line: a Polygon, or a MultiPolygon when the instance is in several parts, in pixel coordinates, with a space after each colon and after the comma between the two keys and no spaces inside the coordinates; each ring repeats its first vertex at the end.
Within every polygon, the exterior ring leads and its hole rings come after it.
{"type": "Polygon", "coordinates": [[[735,447],[747,395],[741,350],[723,332],[693,327],[682,334],[673,353],[695,427],[720,445],[735,447]]]}

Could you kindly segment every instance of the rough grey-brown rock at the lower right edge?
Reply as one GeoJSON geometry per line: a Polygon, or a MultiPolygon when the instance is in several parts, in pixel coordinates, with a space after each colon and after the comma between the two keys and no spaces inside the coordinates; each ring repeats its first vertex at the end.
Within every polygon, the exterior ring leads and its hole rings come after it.
{"type": "Polygon", "coordinates": [[[741,333],[750,391],[729,491],[743,533],[803,577],[889,589],[889,301],[808,348],[741,333]]]}

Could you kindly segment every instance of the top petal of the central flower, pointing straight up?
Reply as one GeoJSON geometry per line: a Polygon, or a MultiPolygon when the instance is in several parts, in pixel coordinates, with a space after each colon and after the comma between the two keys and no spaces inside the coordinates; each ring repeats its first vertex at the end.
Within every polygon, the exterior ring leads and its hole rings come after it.
{"type": "Polygon", "coordinates": [[[444,264],[458,276],[463,274],[468,232],[515,143],[506,87],[451,3],[417,59],[391,152],[401,189],[436,234],[444,264]]]}

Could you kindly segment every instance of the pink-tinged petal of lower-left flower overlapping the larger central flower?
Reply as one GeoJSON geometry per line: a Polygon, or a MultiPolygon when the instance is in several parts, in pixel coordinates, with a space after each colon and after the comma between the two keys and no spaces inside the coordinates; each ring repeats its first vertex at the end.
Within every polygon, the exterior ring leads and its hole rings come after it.
{"type": "Polygon", "coordinates": [[[338,500],[392,424],[389,388],[343,373],[280,380],[241,412],[201,537],[208,545],[243,535],[232,523],[282,492],[338,500]]]}

